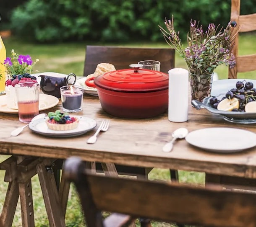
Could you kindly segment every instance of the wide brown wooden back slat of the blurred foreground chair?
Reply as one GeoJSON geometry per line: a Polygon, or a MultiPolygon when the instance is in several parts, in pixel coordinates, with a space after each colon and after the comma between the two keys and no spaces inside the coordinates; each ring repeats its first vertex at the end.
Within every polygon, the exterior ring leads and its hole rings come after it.
{"type": "Polygon", "coordinates": [[[253,193],[87,177],[99,210],[183,224],[219,227],[256,225],[256,194],[253,193]]]}

